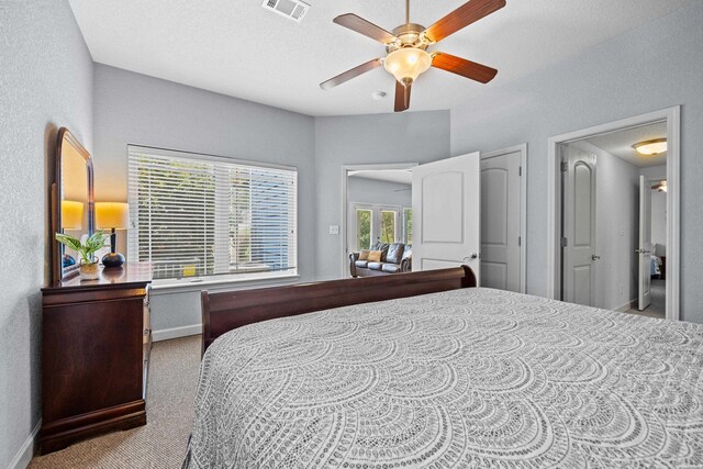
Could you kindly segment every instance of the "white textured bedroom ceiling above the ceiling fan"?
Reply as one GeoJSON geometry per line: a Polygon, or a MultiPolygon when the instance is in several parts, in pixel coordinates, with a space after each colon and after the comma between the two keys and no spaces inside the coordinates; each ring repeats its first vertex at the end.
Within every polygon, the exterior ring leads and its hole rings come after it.
{"type": "MultiPolygon", "coordinates": [[[[311,115],[390,112],[393,80],[376,69],[330,91],[321,81],[375,57],[382,45],[332,22],[354,12],[388,30],[402,0],[309,0],[302,23],[261,0],[69,0],[93,60],[311,115]],[[386,91],[380,101],[373,91],[386,91]]],[[[431,25],[464,0],[411,1],[411,21],[431,25]]],[[[684,0],[507,0],[433,49],[498,68],[480,85],[431,69],[411,111],[444,110],[670,13],[684,0]]]]}

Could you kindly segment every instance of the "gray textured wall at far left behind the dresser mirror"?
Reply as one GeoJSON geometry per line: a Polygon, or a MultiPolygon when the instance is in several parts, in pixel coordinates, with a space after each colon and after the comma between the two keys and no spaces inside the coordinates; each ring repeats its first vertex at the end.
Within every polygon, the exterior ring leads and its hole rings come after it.
{"type": "MultiPolygon", "coordinates": [[[[92,145],[92,59],[66,1],[0,2],[0,467],[41,417],[57,130],[92,145]]],[[[26,461],[24,461],[26,462],[26,461]]]]}

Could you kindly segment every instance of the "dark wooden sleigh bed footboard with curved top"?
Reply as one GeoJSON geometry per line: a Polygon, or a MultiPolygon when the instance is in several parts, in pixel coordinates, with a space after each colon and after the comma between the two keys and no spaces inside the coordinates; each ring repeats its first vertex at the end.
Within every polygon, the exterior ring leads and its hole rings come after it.
{"type": "Polygon", "coordinates": [[[202,353],[228,331],[276,317],[476,287],[468,266],[222,293],[201,292],[202,353]]]}

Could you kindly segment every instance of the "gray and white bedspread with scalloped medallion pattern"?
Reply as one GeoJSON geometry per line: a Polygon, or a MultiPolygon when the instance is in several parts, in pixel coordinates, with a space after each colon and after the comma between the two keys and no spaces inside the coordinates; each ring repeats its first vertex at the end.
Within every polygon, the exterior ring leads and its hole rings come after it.
{"type": "Polygon", "coordinates": [[[188,468],[703,467],[703,326],[490,289],[209,348],[188,468]]]}

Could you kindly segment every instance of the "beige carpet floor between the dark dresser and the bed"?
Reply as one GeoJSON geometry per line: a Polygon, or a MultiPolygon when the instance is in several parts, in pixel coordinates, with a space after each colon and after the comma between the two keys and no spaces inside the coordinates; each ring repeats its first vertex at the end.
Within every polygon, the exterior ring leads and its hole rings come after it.
{"type": "Polygon", "coordinates": [[[180,468],[193,424],[199,368],[199,335],[155,343],[149,366],[145,426],[110,433],[35,457],[29,467],[180,468]]]}

